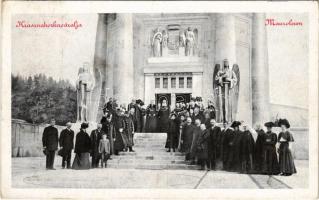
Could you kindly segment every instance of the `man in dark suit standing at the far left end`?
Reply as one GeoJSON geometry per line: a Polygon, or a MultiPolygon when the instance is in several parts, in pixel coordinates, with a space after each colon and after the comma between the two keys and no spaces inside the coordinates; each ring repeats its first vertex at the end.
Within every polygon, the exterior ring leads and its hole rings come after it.
{"type": "Polygon", "coordinates": [[[54,127],[55,119],[51,119],[50,126],[46,127],[42,135],[43,149],[46,154],[46,168],[55,170],[54,156],[58,149],[58,129],[54,127]]]}

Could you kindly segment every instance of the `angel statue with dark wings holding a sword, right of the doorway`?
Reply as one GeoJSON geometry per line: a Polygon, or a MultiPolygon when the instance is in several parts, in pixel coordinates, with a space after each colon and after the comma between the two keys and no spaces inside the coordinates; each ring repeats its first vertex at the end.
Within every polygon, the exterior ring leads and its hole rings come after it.
{"type": "Polygon", "coordinates": [[[240,73],[237,64],[229,68],[228,60],[223,61],[223,68],[216,64],[214,69],[214,94],[216,98],[216,119],[218,122],[236,120],[238,108],[240,73]]]}

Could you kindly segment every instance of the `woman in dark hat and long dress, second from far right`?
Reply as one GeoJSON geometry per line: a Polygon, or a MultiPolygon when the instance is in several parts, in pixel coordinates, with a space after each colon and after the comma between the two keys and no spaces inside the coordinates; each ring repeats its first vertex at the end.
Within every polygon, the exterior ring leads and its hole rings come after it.
{"type": "Polygon", "coordinates": [[[278,158],[276,153],[277,135],[272,132],[273,122],[265,123],[267,132],[263,138],[263,173],[268,175],[277,175],[280,173],[278,158]]]}

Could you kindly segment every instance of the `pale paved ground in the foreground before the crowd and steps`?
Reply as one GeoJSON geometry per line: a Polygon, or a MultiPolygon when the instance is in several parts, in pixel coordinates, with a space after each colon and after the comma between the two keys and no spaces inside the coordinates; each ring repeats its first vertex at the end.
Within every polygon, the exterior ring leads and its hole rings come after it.
{"type": "MultiPolygon", "coordinates": [[[[60,157],[56,162],[60,163],[60,157]]],[[[60,168],[45,170],[44,157],[13,158],[12,186],[17,188],[307,188],[308,161],[295,161],[290,177],[225,171],[60,168]]]]}

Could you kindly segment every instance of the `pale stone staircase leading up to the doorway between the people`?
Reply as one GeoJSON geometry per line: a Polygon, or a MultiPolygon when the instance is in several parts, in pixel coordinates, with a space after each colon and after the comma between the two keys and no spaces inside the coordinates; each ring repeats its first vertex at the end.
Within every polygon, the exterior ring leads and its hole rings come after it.
{"type": "Polygon", "coordinates": [[[198,169],[187,165],[184,154],[166,152],[166,133],[135,133],[134,151],[120,152],[108,161],[109,168],[128,169],[198,169]]]}

